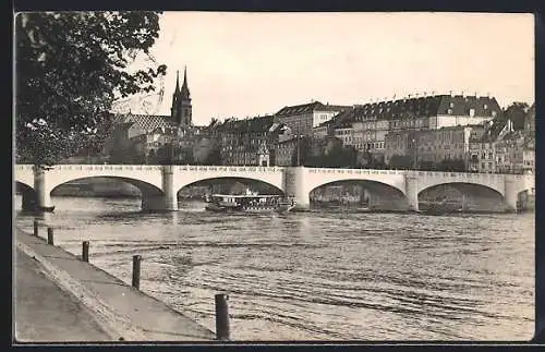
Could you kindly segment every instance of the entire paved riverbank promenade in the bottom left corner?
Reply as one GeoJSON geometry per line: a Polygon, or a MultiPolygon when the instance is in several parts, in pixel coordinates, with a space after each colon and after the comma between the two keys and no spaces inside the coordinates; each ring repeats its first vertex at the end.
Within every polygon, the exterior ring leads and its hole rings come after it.
{"type": "Polygon", "coordinates": [[[43,238],[15,231],[15,342],[215,339],[165,303],[43,238]]]}

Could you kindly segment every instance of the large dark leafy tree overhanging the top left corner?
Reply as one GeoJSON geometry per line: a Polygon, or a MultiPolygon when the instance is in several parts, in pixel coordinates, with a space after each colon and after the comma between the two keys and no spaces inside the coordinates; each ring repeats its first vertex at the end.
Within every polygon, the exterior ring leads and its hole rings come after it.
{"type": "Polygon", "coordinates": [[[33,12],[15,19],[16,157],[51,166],[89,144],[117,98],[154,90],[164,64],[129,72],[159,36],[156,12],[33,12]]]}

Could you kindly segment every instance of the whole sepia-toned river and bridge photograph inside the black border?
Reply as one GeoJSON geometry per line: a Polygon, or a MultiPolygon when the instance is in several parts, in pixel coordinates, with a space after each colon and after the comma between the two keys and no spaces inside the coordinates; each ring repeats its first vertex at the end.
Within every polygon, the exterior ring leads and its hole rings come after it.
{"type": "Polygon", "coordinates": [[[12,341],[532,340],[534,21],[15,13],[12,341]]]}

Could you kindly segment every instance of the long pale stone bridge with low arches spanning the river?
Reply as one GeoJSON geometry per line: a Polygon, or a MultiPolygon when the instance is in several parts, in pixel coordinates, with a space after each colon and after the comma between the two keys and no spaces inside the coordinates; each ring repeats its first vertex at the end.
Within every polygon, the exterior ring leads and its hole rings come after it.
{"type": "Polygon", "coordinates": [[[534,187],[533,175],[463,173],[411,170],[332,169],[305,167],[58,165],[47,170],[16,165],[14,181],[23,194],[23,208],[55,208],[51,191],[66,182],[88,178],[125,181],[142,192],[143,210],[177,210],[178,191],[192,183],[220,178],[241,178],[268,183],[294,196],[299,208],[310,206],[313,190],[338,181],[367,181],[393,189],[419,209],[419,194],[440,184],[474,184],[499,194],[506,209],[516,210],[520,192],[534,187]]]}

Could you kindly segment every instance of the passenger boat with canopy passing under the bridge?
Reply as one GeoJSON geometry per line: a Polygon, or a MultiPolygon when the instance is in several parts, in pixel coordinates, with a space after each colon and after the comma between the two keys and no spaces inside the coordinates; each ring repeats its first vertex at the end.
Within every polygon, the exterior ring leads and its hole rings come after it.
{"type": "Polygon", "coordinates": [[[231,195],[213,194],[207,197],[206,210],[210,211],[247,211],[247,213],[286,213],[293,209],[295,202],[281,195],[231,195]]]}

